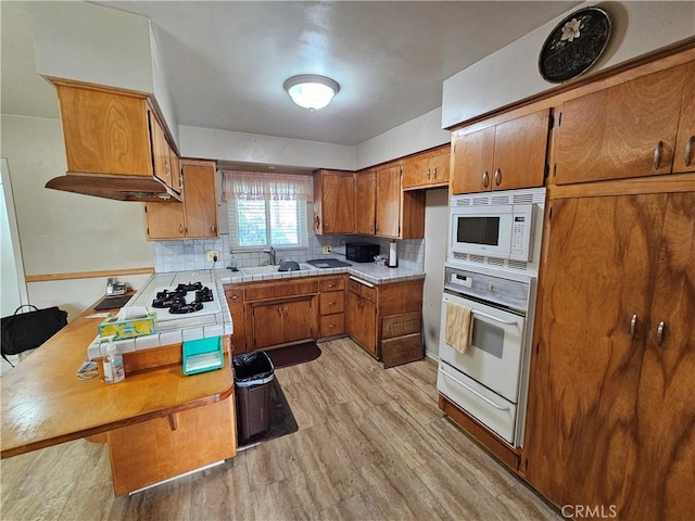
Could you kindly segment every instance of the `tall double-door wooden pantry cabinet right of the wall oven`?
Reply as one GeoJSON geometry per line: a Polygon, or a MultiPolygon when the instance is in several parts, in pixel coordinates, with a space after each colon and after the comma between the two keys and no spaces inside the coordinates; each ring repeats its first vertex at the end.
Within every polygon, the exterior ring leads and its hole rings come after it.
{"type": "Polygon", "coordinates": [[[521,472],[558,506],[687,519],[695,193],[549,206],[521,472]]]}

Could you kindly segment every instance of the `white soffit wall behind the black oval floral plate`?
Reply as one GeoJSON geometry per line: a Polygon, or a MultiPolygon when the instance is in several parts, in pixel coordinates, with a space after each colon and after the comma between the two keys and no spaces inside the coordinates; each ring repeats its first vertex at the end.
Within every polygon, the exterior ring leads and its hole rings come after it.
{"type": "MultiPolygon", "coordinates": [[[[586,2],[590,7],[595,2],[586,2]]],[[[695,35],[695,2],[605,2],[612,21],[606,52],[587,76],[695,35]]],[[[444,81],[442,127],[547,91],[555,84],[539,73],[543,42],[566,13],[444,81]]]]}

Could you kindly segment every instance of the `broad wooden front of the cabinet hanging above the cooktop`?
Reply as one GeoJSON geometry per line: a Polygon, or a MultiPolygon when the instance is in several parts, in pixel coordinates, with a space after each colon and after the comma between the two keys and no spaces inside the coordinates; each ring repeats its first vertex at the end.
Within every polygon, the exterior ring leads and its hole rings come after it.
{"type": "Polygon", "coordinates": [[[68,171],[152,175],[143,97],[55,85],[68,171]]]}

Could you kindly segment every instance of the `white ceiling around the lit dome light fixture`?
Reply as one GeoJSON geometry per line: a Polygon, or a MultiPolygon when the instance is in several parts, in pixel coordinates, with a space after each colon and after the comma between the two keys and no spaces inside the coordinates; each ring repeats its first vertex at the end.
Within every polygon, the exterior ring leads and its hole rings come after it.
{"type": "MultiPolygon", "coordinates": [[[[580,2],[96,3],[152,21],[180,125],[356,145],[437,109],[444,79],[580,2]],[[341,90],[308,112],[282,90],[296,74],[341,90]]],[[[58,117],[30,8],[0,3],[2,113],[58,117]]]]}

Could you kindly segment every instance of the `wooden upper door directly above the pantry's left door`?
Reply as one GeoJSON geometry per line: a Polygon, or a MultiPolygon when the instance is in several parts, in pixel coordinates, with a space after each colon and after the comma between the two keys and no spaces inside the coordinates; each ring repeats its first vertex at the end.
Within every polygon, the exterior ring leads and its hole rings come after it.
{"type": "Polygon", "coordinates": [[[670,173],[685,68],[670,68],[566,102],[557,134],[555,182],[670,173]]]}

